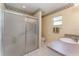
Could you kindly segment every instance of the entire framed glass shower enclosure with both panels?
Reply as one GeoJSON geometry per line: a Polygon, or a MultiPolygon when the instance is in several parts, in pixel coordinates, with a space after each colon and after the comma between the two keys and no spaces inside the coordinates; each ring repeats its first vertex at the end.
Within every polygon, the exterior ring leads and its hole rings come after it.
{"type": "Polygon", "coordinates": [[[39,19],[4,12],[4,55],[19,56],[39,47],[39,19]]]}

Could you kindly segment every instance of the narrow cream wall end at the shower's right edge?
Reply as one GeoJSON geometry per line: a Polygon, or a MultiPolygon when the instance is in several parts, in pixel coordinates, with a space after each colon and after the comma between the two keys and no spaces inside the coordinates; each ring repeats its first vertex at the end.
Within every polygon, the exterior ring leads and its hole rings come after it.
{"type": "Polygon", "coordinates": [[[41,47],[41,37],[42,37],[42,31],[41,31],[41,29],[42,29],[42,19],[41,19],[41,17],[42,17],[42,12],[41,11],[37,11],[33,16],[36,16],[36,17],[38,17],[39,18],[39,47],[41,47]]]}

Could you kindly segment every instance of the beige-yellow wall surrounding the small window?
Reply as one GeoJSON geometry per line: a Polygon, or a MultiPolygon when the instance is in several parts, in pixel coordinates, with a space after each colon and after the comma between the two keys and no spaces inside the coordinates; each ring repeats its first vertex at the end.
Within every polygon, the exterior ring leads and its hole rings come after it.
{"type": "Polygon", "coordinates": [[[55,40],[64,34],[77,34],[79,35],[79,6],[64,9],[63,11],[50,14],[43,17],[42,20],[42,35],[47,41],[55,40]],[[63,25],[60,26],[60,33],[53,33],[53,17],[62,16],[63,25]]]}

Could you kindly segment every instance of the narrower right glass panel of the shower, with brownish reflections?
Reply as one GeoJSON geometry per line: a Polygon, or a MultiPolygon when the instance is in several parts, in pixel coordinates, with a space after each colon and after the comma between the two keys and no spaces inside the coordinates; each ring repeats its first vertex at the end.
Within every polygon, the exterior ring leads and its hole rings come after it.
{"type": "Polygon", "coordinates": [[[26,53],[38,48],[37,20],[32,18],[26,19],[26,53]]]}

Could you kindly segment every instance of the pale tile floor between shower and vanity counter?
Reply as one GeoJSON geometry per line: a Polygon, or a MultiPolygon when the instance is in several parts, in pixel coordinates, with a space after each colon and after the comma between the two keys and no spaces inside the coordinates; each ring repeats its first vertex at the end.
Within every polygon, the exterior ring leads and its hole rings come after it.
{"type": "Polygon", "coordinates": [[[39,49],[26,54],[25,56],[62,56],[61,54],[51,50],[46,45],[43,45],[39,49]]]}

